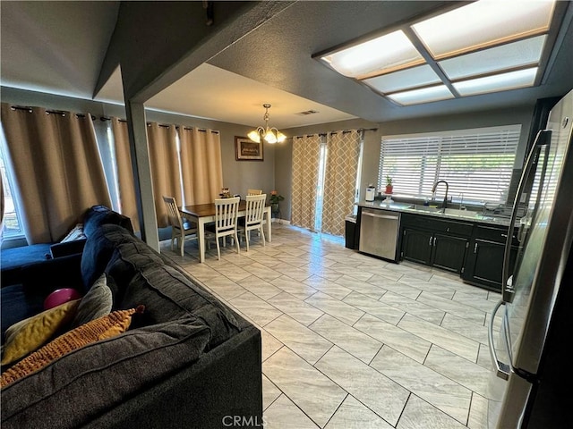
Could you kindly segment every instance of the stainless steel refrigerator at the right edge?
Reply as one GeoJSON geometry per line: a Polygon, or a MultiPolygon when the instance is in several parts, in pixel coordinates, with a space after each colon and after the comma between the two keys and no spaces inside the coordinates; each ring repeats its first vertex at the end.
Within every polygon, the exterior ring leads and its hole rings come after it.
{"type": "Polygon", "coordinates": [[[552,108],[545,130],[537,133],[517,189],[506,286],[489,326],[492,382],[499,377],[490,384],[497,393],[491,389],[489,427],[573,427],[571,122],[573,91],[552,108]],[[512,248],[516,235],[519,246],[512,248]],[[513,270],[511,251],[517,251],[513,270]]]}

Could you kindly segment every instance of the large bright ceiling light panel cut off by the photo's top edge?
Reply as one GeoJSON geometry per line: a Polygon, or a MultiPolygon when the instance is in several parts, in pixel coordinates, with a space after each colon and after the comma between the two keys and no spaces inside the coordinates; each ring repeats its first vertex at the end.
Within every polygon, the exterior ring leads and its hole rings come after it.
{"type": "Polygon", "coordinates": [[[481,0],[412,26],[440,59],[541,34],[549,29],[554,0],[481,0]]]}

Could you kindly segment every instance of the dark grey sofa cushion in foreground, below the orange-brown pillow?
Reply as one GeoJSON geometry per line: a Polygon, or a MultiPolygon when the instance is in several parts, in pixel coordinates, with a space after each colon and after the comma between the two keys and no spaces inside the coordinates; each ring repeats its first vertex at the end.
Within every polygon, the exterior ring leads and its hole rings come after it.
{"type": "Polygon", "coordinates": [[[192,365],[208,341],[209,329],[188,315],[73,350],[2,389],[2,427],[87,425],[192,365]]]}

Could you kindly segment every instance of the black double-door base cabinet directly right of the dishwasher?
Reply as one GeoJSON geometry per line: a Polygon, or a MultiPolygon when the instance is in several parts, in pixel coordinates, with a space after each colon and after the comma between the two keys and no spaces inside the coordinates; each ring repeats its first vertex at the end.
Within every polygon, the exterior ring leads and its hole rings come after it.
{"type": "Polygon", "coordinates": [[[400,256],[403,259],[462,273],[473,229],[471,223],[434,220],[427,216],[403,216],[402,219],[400,256]]]}

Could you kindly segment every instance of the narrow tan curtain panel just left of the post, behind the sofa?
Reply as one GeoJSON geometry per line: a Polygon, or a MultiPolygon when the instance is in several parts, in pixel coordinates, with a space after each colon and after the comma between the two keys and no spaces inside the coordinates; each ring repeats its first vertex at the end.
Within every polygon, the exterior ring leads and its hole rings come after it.
{"type": "Polygon", "coordinates": [[[117,188],[119,194],[119,213],[132,220],[133,231],[140,231],[140,218],[135,200],[132,154],[127,135],[127,122],[119,118],[111,119],[114,133],[115,164],[117,164],[117,188]]]}

